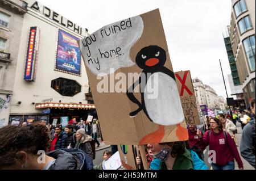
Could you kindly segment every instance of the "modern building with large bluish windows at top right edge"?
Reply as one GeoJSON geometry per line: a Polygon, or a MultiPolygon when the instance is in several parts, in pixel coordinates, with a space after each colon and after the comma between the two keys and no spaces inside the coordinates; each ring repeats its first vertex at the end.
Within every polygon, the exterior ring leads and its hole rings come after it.
{"type": "Polygon", "coordinates": [[[255,99],[255,1],[232,0],[229,38],[248,107],[255,99]]]}

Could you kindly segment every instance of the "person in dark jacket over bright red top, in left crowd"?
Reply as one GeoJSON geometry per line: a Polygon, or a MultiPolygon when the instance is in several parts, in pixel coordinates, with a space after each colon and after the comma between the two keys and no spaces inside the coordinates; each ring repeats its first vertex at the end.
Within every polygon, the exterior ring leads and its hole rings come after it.
{"type": "Polygon", "coordinates": [[[67,134],[62,129],[62,125],[58,124],[55,127],[55,134],[51,142],[50,151],[57,150],[60,148],[67,148],[67,134]]]}

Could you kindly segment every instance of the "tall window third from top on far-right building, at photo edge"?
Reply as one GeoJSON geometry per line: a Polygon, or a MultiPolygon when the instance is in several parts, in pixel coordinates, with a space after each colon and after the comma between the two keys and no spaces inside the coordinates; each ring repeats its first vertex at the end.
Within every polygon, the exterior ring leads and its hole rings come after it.
{"type": "Polygon", "coordinates": [[[250,71],[255,71],[255,36],[249,36],[243,40],[243,46],[245,47],[250,71]]]}

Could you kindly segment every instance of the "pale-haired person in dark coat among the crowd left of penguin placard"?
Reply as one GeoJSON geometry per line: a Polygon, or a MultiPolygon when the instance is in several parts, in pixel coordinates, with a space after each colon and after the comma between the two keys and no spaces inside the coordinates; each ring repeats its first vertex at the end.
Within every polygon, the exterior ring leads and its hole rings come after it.
{"type": "Polygon", "coordinates": [[[88,154],[90,158],[94,159],[95,154],[93,153],[94,151],[91,145],[92,137],[85,133],[84,128],[80,128],[76,131],[76,140],[75,149],[81,149],[88,154]]]}

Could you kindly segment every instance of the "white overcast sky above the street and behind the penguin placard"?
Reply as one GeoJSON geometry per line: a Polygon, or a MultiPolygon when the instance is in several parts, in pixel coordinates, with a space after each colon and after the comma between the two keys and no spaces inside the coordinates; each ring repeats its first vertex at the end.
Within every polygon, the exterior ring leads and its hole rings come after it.
{"type": "Polygon", "coordinates": [[[160,10],[174,71],[191,70],[226,98],[219,59],[230,96],[227,74],[230,74],[228,56],[222,33],[230,24],[231,0],[39,0],[43,5],[65,18],[87,28],[89,33],[101,27],[160,10]]]}

